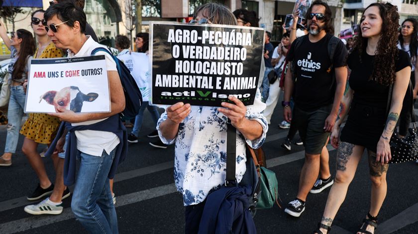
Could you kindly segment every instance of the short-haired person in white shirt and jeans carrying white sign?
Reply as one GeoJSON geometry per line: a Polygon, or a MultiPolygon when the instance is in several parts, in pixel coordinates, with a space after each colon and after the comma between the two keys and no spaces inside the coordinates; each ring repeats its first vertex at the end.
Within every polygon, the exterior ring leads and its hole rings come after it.
{"type": "MultiPolygon", "coordinates": [[[[98,47],[104,47],[85,35],[86,14],[71,2],[51,5],[44,15],[48,36],[57,48],[68,49],[68,57],[90,56],[98,47]]],[[[111,112],[75,113],[58,109],[52,116],[71,123],[72,126],[92,125],[114,118],[125,108],[122,85],[116,63],[105,52],[109,80],[111,112]]],[[[100,84],[98,84],[100,85],[100,84]]],[[[109,189],[110,168],[115,158],[120,138],[113,132],[84,130],[75,131],[80,169],[77,174],[71,208],[76,218],[90,233],[118,233],[117,217],[109,189]]]]}

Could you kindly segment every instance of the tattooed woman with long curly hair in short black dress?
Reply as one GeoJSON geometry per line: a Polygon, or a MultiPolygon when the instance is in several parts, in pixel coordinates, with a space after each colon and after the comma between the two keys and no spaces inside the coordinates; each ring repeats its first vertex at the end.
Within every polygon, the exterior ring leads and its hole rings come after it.
{"type": "Polygon", "coordinates": [[[397,10],[390,3],[372,3],[363,11],[359,36],[347,58],[351,70],[350,87],[341,102],[330,138],[331,145],[338,148],[335,182],[329,191],[317,234],[329,232],[365,149],[372,181],[371,204],[357,234],[372,234],[377,227],[376,218],[387,192],[387,163],[391,159],[389,140],[411,75],[408,54],[397,48],[397,10]],[[386,106],[391,83],[393,97],[388,115],[386,106]],[[347,112],[348,119],[339,140],[339,126],[347,112]]]}

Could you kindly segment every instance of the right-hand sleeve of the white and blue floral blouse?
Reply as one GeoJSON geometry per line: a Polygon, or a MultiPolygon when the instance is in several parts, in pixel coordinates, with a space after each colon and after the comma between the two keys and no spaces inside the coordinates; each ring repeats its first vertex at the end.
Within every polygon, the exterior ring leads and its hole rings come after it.
{"type": "Polygon", "coordinates": [[[260,90],[257,88],[255,99],[254,99],[254,104],[247,106],[247,113],[245,114],[247,119],[255,120],[259,122],[261,126],[263,127],[263,134],[261,135],[260,138],[255,139],[253,141],[245,139],[247,144],[253,149],[260,148],[263,145],[264,141],[266,140],[266,135],[269,129],[269,125],[267,124],[267,120],[263,115],[264,109],[266,109],[266,103],[261,101],[261,93],[260,93],[260,90]]]}

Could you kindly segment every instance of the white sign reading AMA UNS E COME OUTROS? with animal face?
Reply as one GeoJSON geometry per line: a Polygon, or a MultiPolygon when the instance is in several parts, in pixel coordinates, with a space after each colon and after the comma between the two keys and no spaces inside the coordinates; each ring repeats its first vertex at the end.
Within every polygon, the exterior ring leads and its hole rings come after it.
{"type": "Polygon", "coordinates": [[[110,112],[104,55],[33,59],[28,77],[26,113],[110,112]]]}

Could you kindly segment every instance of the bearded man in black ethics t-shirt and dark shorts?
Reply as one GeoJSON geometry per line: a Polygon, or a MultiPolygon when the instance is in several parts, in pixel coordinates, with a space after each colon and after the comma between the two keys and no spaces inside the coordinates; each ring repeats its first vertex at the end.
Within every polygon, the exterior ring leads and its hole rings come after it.
{"type": "Polygon", "coordinates": [[[337,42],[332,47],[335,49],[333,56],[328,52],[328,43],[333,37],[329,6],[323,1],[314,1],[306,18],[309,34],[295,40],[288,53],[287,61],[291,69],[286,74],[282,103],[285,120],[291,122],[289,105],[293,95],[293,116],[297,118],[296,124],[305,146],[299,192],[285,210],[294,217],[305,211],[309,192],[319,193],[333,183],[328,151],[324,146],[337,118],[347,78],[347,50],[344,44],[332,39],[337,42]]]}

